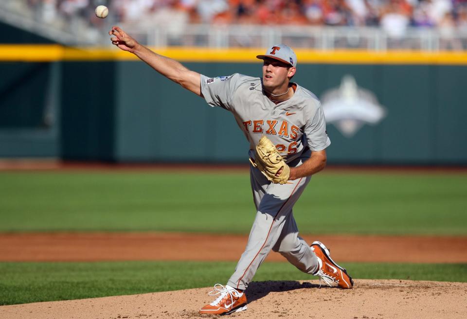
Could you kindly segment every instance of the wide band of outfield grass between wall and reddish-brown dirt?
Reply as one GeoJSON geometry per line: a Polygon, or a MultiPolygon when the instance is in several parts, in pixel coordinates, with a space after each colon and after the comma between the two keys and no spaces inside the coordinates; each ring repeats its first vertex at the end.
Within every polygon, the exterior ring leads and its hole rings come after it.
{"type": "MultiPolygon", "coordinates": [[[[247,173],[0,173],[0,180],[3,232],[248,233],[255,213],[247,173]]],[[[302,233],[466,235],[467,175],[323,172],[294,216],[302,233]]]]}

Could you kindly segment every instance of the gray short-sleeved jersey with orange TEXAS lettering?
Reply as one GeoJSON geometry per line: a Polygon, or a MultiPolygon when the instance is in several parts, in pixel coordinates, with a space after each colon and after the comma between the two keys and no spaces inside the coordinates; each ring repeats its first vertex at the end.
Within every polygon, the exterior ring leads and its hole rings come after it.
{"type": "Polygon", "coordinates": [[[263,94],[260,78],[238,73],[215,78],[202,75],[201,92],[209,105],[234,114],[250,149],[266,135],[290,163],[308,149],[321,151],[331,143],[320,101],[298,85],[292,98],[277,105],[263,94]]]}

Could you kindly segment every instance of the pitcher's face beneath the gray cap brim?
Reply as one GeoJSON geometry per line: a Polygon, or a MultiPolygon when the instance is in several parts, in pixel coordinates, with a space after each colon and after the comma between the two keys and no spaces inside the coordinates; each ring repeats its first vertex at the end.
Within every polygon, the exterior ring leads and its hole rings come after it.
{"type": "Polygon", "coordinates": [[[295,68],[287,63],[269,58],[263,60],[263,85],[268,89],[287,88],[289,76],[293,74],[295,68]]]}

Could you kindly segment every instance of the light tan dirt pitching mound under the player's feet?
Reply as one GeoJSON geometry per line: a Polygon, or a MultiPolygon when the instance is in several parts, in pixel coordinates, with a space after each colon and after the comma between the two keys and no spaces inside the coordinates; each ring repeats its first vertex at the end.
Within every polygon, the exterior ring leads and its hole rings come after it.
{"type": "MultiPolygon", "coordinates": [[[[206,318],[210,288],[0,307],[10,319],[206,318]]],[[[356,280],[354,289],[319,287],[319,281],[253,282],[248,310],[225,318],[467,318],[467,284],[356,280]]]]}

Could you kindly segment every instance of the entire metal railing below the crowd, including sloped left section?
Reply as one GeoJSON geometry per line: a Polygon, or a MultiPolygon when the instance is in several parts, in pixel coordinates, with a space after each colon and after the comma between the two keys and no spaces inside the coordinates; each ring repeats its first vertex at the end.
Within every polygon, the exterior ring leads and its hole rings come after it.
{"type": "MultiPolygon", "coordinates": [[[[110,46],[107,31],[116,23],[111,17],[100,26],[92,26],[82,17],[56,16],[47,20],[18,0],[0,1],[0,19],[59,43],[78,46],[110,46]]],[[[392,36],[379,27],[186,24],[143,28],[125,23],[121,26],[141,43],[155,47],[267,47],[286,43],[293,48],[316,50],[467,50],[466,29],[408,28],[403,36],[392,36]]]]}

